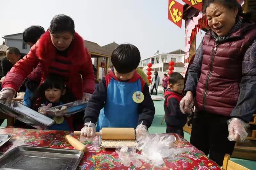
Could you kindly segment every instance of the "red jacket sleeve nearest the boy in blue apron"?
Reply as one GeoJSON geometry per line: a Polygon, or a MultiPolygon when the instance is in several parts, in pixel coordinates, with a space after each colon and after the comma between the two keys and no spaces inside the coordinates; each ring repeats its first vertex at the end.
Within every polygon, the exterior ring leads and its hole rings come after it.
{"type": "Polygon", "coordinates": [[[85,48],[85,60],[84,64],[81,66],[81,75],[83,78],[83,92],[92,94],[95,88],[95,78],[92,68],[91,55],[89,54],[87,48],[85,48]]]}

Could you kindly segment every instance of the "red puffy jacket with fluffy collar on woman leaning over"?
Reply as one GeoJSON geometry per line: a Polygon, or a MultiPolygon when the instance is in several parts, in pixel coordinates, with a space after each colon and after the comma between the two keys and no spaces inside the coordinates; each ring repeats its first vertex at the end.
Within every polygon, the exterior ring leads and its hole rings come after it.
{"type": "Polygon", "coordinates": [[[74,40],[61,55],[52,44],[49,31],[45,32],[37,43],[30,49],[27,56],[17,62],[6,75],[2,88],[20,88],[21,83],[39,63],[41,64],[41,83],[50,74],[61,76],[67,87],[72,90],[76,100],[82,99],[83,92],[93,93],[94,74],[92,60],[84,41],[75,33],[74,40]]]}

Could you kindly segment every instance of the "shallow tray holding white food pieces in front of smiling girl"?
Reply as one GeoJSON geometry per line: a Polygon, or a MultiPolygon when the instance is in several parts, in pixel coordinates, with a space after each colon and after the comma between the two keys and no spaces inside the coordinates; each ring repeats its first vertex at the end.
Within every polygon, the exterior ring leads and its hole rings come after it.
{"type": "Polygon", "coordinates": [[[81,112],[85,110],[86,106],[87,106],[87,102],[82,102],[81,100],[78,100],[71,103],[62,104],[56,107],[51,107],[46,112],[49,113],[50,115],[55,115],[55,116],[67,116],[67,115],[75,114],[77,112],[81,112]],[[66,106],[67,108],[61,109],[63,106],[66,106]],[[58,109],[58,111],[53,111],[54,109],[58,109]]]}

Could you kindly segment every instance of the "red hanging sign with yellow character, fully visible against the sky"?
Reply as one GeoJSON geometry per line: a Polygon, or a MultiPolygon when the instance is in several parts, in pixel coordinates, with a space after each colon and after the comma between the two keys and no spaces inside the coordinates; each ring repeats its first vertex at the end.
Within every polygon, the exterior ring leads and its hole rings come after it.
{"type": "Polygon", "coordinates": [[[181,28],[183,5],[174,0],[169,0],[168,7],[168,19],[181,28]]]}

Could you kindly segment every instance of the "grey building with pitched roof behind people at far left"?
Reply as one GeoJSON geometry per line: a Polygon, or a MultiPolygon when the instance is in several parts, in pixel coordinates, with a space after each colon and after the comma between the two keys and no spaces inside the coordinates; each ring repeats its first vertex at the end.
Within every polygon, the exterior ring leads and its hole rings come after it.
{"type": "Polygon", "coordinates": [[[6,46],[16,47],[20,50],[20,52],[28,54],[30,50],[30,45],[23,41],[22,35],[23,33],[4,35],[2,38],[5,39],[6,46]]]}

